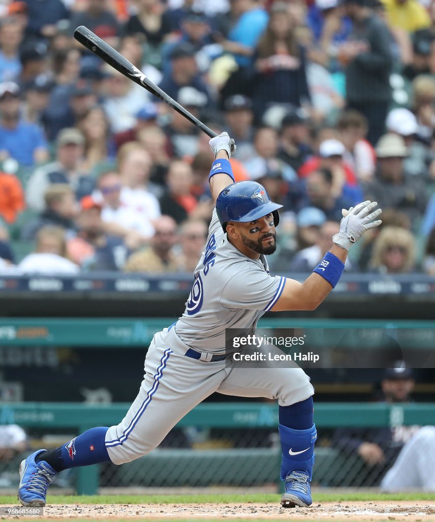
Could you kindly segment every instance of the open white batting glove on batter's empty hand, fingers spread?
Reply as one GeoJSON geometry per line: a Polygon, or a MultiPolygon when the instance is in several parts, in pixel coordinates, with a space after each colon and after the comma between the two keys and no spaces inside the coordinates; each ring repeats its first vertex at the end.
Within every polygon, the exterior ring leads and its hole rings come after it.
{"type": "Polygon", "coordinates": [[[355,208],[351,207],[349,210],[343,209],[340,232],[333,236],[333,243],[341,246],[345,250],[349,250],[349,248],[361,238],[364,232],[379,227],[382,221],[380,219],[376,221],[373,220],[380,215],[382,210],[378,208],[374,212],[371,212],[377,205],[377,201],[364,201],[364,203],[360,203],[355,208]]]}

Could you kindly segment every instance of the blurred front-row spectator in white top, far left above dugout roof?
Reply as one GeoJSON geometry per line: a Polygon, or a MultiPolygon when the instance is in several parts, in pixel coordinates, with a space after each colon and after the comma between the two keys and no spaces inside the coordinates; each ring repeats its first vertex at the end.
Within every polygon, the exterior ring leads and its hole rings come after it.
{"type": "Polygon", "coordinates": [[[46,226],[36,234],[35,251],[18,265],[23,274],[74,275],[79,272],[67,252],[65,230],[46,226]]]}

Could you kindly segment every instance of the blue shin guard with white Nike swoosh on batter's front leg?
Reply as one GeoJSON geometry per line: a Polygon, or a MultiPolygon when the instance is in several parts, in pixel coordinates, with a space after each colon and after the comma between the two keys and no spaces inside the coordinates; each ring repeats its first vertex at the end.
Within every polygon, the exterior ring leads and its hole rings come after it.
{"type": "Polygon", "coordinates": [[[293,430],[279,424],[282,462],[281,480],[285,480],[292,471],[305,471],[309,478],[313,476],[314,443],[317,439],[316,425],[308,430],[293,430]]]}

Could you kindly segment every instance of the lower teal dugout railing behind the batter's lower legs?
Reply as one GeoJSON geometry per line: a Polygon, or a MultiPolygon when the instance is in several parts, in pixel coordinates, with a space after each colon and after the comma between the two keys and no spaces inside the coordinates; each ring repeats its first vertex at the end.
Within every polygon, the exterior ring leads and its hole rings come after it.
{"type": "MultiPolygon", "coordinates": [[[[17,423],[28,428],[73,428],[81,433],[93,426],[117,424],[129,404],[90,406],[77,403],[26,402],[0,405],[0,424],[17,423]]],[[[341,426],[379,427],[435,424],[435,403],[386,405],[373,403],[320,403],[315,408],[318,428],[341,426]]],[[[189,412],[178,426],[198,428],[267,428],[278,425],[276,405],[238,402],[201,404],[189,412]]],[[[277,462],[279,455],[277,454],[277,462]]],[[[278,468],[277,468],[278,469],[278,468]]],[[[78,469],[77,492],[98,490],[98,466],[78,469]]]]}

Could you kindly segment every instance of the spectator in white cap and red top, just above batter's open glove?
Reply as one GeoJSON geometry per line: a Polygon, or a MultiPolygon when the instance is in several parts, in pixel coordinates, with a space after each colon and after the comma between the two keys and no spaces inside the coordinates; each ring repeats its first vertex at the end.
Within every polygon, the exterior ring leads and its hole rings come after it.
{"type": "Polygon", "coordinates": [[[319,155],[307,160],[299,169],[298,174],[300,179],[304,180],[310,173],[318,169],[327,169],[333,177],[332,194],[343,197],[351,205],[356,205],[362,201],[363,194],[355,172],[343,159],[345,151],[344,145],[338,139],[322,140],[319,145],[319,155]]]}

